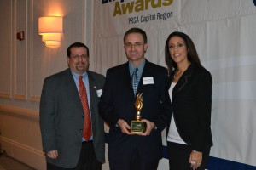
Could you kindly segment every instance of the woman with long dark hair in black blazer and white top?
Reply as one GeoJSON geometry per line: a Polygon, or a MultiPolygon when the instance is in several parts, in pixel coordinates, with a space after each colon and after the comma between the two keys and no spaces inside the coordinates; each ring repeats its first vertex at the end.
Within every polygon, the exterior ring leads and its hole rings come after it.
{"type": "Polygon", "coordinates": [[[172,118],[167,129],[171,170],[203,170],[212,146],[212,76],[183,32],[166,40],[172,118]]]}

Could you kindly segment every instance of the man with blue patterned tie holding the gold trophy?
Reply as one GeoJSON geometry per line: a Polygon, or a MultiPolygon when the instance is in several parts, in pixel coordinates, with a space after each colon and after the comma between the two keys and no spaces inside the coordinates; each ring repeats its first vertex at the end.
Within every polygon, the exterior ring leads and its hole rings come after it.
{"type": "Polygon", "coordinates": [[[148,48],[145,31],[131,28],[125,33],[124,43],[128,62],[108,69],[99,103],[100,115],[110,126],[109,167],[155,170],[162,157],[161,131],[172,112],[166,90],[167,70],[144,58],[148,48]],[[130,122],[136,113],[134,103],[138,93],[143,93],[141,116],[146,131],[131,133],[130,122]]]}

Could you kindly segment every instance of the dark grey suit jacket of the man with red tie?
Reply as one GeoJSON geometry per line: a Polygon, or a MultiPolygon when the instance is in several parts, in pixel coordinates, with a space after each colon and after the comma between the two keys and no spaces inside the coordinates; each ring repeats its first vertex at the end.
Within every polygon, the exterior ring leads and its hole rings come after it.
{"type": "MultiPolygon", "coordinates": [[[[87,71],[90,86],[90,114],[94,148],[98,161],[104,161],[104,125],[98,115],[96,90],[103,88],[104,77],[87,71]]],[[[43,150],[58,150],[56,160],[46,160],[58,167],[72,168],[79,161],[82,146],[84,111],[70,69],[44,80],[40,102],[40,127],[43,150]]]]}

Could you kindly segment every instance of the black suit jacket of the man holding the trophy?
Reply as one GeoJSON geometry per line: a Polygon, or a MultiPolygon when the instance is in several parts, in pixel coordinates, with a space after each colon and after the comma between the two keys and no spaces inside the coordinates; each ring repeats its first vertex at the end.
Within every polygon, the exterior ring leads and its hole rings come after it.
{"type": "Polygon", "coordinates": [[[161,133],[170,120],[171,107],[166,93],[167,70],[146,60],[137,93],[143,93],[143,119],[154,122],[159,131],[150,135],[127,135],[116,124],[119,119],[130,124],[134,119],[135,96],[131,86],[129,63],[108,69],[99,111],[109,124],[108,159],[109,161],[130,160],[133,150],[137,149],[146,161],[159,160],[162,157],[161,133]],[[154,84],[143,85],[143,77],[153,77],[154,84]],[[167,98],[167,99],[166,99],[167,98]]]}

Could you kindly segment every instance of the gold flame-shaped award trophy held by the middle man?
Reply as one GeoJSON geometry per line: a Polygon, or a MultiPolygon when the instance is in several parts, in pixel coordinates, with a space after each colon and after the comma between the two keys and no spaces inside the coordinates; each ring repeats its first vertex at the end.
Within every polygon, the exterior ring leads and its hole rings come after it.
{"type": "Polygon", "coordinates": [[[143,133],[144,122],[142,121],[141,111],[143,110],[143,94],[137,94],[135,101],[135,120],[131,121],[131,133],[143,133]]]}

